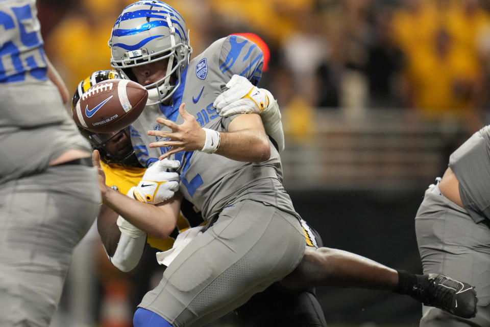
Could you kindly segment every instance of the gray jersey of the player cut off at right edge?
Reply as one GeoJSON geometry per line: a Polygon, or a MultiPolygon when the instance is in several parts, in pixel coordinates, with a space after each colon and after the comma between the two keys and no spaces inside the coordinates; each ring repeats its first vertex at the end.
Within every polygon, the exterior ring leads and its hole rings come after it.
{"type": "Polygon", "coordinates": [[[449,158],[461,201],[475,222],[490,219],[490,125],[473,134],[449,158]]]}

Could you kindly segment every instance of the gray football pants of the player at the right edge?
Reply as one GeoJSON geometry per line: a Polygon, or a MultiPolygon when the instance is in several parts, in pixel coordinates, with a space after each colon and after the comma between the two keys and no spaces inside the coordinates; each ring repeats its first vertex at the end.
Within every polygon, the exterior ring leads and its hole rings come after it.
{"type": "Polygon", "coordinates": [[[470,283],[478,297],[475,318],[424,306],[420,326],[490,326],[490,228],[476,224],[437,186],[431,186],[415,217],[415,232],[424,273],[442,273],[470,283]]]}

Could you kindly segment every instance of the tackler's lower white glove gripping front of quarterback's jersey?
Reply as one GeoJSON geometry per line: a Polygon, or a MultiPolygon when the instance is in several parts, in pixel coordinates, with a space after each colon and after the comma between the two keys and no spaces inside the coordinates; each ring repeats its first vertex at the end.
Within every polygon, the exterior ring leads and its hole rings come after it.
{"type": "Polygon", "coordinates": [[[132,189],[134,198],[138,201],[158,204],[174,196],[179,190],[180,176],[167,169],[177,169],[180,162],[163,159],[155,162],[146,169],[138,185],[132,189]]]}

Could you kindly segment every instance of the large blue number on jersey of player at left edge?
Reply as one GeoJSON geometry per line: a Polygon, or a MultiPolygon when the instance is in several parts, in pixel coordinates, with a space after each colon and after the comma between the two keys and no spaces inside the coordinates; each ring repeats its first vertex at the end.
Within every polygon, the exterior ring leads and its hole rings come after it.
{"type": "Polygon", "coordinates": [[[7,76],[2,61],[0,60],[0,83],[23,81],[26,79],[27,71],[29,71],[30,74],[38,80],[46,80],[46,60],[44,59],[42,42],[39,40],[39,37],[35,31],[28,33],[21,22],[22,20],[33,19],[31,7],[29,5],[26,5],[23,7],[12,8],[12,12],[15,16],[13,18],[7,13],[0,11],[0,25],[2,25],[7,31],[14,29],[16,26],[15,23],[17,23],[17,25],[19,26],[20,41],[24,46],[27,46],[28,48],[37,47],[39,49],[39,53],[41,55],[44,65],[42,67],[39,67],[34,59],[34,56],[24,58],[24,62],[22,62],[22,59],[20,58],[20,51],[17,46],[14,44],[14,42],[12,42],[12,40],[7,41],[0,47],[0,59],[4,56],[10,56],[10,59],[12,60],[12,64],[15,69],[15,73],[7,76]]]}

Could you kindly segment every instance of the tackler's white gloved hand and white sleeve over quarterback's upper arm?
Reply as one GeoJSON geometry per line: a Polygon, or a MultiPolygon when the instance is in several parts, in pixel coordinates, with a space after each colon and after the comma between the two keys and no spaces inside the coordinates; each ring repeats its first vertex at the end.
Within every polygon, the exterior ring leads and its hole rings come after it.
{"type": "Polygon", "coordinates": [[[233,75],[228,88],[214,100],[216,111],[228,117],[237,113],[258,113],[265,133],[276,141],[279,152],[284,150],[284,131],[279,105],[271,92],[254,86],[247,78],[233,75]]]}

